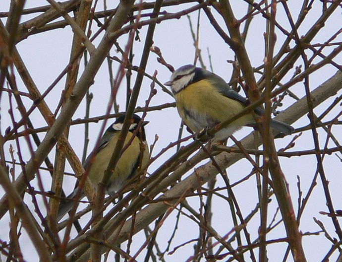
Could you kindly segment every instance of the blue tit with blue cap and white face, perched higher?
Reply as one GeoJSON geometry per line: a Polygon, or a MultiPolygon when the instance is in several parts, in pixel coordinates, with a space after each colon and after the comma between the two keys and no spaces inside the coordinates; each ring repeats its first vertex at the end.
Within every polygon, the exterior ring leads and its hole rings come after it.
{"type": "MultiPolygon", "coordinates": [[[[200,67],[181,66],[165,85],[171,86],[179,116],[193,132],[199,132],[224,122],[247,106],[247,99],[233,91],[220,76],[200,67]]],[[[264,111],[254,110],[257,116],[264,111]]],[[[252,114],[233,121],[215,134],[217,140],[225,140],[243,126],[255,126],[252,114]]],[[[293,127],[271,120],[270,126],[284,134],[291,134],[293,127]]]]}

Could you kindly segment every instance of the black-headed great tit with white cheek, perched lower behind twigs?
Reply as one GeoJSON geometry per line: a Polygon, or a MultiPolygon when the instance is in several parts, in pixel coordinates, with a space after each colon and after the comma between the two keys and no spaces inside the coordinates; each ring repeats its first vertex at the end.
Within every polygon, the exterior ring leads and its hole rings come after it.
{"type": "MultiPolygon", "coordinates": [[[[88,165],[90,164],[90,159],[93,153],[95,153],[95,158],[88,173],[88,177],[95,189],[97,189],[97,185],[102,181],[105,171],[108,167],[120,131],[122,130],[124,118],[125,115],[118,117],[114,124],[112,124],[105,131],[100,140],[99,146],[94,148],[93,152],[89,154],[83,163],[84,169],[87,169],[88,165]]],[[[133,132],[137,129],[140,121],[141,118],[134,114],[130,120],[129,132],[127,133],[124,144],[127,144],[131,139],[133,132]]],[[[144,126],[148,123],[148,121],[144,121],[142,123],[141,128],[137,132],[136,136],[133,138],[129,146],[122,153],[120,159],[118,160],[114,169],[114,173],[107,185],[106,192],[108,195],[113,196],[115,192],[124,186],[128,179],[133,177],[138,171],[141,170],[142,167],[146,166],[149,160],[149,148],[146,142],[144,126]]],[[[72,199],[76,196],[78,190],[77,184],[74,191],[67,196],[67,198],[72,199]]],[[[80,198],[83,198],[84,196],[84,193],[82,193],[80,198]]],[[[72,206],[72,200],[61,201],[57,214],[57,221],[59,221],[69,210],[71,210],[72,206]]]]}

